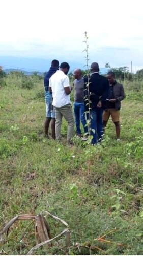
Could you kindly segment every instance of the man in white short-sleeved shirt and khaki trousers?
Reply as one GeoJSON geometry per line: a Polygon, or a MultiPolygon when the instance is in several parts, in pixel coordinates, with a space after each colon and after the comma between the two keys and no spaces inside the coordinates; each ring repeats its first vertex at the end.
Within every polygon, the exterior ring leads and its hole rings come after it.
{"type": "Polygon", "coordinates": [[[67,76],[70,66],[67,62],[60,65],[60,70],[54,73],[49,80],[49,91],[52,92],[53,106],[55,108],[55,135],[56,139],[61,138],[61,124],[64,116],[68,122],[67,141],[71,142],[74,129],[74,118],[70,101],[70,81],[67,76]]]}

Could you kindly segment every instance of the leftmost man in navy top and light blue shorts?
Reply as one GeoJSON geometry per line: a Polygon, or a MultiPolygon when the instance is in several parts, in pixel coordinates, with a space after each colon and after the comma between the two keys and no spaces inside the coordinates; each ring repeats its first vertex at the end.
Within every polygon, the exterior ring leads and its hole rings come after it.
{"type": "Polygon", "coordinates": [[[49,79],[59,69],[59,61],[53,59],[51,67],[44,77],[46,120],[44,123],[45,135],[48,137],[49,125],[51,123],[52,138],[55,139],[55,111],[52,106],[52,93],[49,92],[49,79]]]}

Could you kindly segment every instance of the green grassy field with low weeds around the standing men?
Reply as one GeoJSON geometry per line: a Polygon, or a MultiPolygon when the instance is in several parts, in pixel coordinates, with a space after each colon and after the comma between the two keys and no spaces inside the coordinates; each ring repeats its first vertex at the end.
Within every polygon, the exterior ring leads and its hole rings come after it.
{"type": "MultiPolygon", "coordinates": [[[[0,230],[16,215],[48,210],[69,224],[71,247],[65,248],[61,238],[49,251],[41,247],[34,254],[143,254],[143,86],[138,91],[133,82],[125,83],[121,142],[110,120],[101,145],[74,137],[69,147],[65,139],[58,143],[44,137],[42,80],[33,78],[29,90],[22,88],[21,78],[5,79],[7,86],[0,90],[0,230]],[[94,240],[106,233],[109,242],[94,240]]],[[[62,134],[66,137],[65,122],[62,134]]],[[[35,245],[30,223],[10,228],[1,254],[26,254],[35,245]]],[[[49,223],[52,237],[63,230],[60,223],[49,223]]]]}

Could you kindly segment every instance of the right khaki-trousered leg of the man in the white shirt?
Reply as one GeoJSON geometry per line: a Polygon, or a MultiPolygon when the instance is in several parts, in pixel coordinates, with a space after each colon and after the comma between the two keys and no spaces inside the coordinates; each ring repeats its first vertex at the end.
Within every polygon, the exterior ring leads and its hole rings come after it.
{"type": "Polygon", "coordinates": [[[72,107],[71,104],[67,104],[60,108],[62,115],[65,117],[66,121],[68,122],[68,131],[67,131],[67,141],[70,142],[73,136],[73,129],[74,129],[74,118],[72,114],[72,107]]]}

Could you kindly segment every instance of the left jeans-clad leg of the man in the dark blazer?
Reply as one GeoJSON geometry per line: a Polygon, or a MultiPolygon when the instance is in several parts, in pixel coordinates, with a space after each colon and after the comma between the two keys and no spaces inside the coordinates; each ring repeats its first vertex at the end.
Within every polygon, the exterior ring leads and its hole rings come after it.
{"type": "Polygon", "coordinates": [[[90,135],[93,136],[93,139],[91,141],[92,144],[96,144],[97,143],[97,114],[95,110],[91,110],[90,111],[90,120],[91,120],[91,124],[90,124],[90,128],[91,128],[91,132],[90,135]]]}

